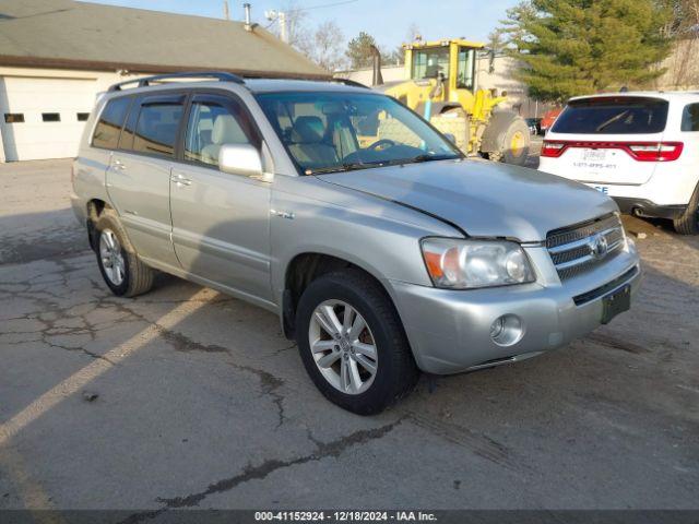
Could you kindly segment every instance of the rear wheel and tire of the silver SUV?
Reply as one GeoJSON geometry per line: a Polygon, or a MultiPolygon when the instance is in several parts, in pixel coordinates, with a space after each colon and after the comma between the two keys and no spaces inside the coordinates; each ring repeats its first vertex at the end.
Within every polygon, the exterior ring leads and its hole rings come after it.
{"type": "Polygon", "coordinates": [[[135,297],[151,290],[154,271],[141,262],[116,214],[105,211],[97,218],[95,230],[97,265],[111,293],[135,297]]]}

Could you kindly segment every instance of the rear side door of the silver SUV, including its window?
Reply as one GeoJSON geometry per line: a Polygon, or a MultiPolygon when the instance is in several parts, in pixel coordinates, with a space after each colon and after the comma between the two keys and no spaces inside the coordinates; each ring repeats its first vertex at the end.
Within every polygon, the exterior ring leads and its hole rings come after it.
{"type": "Polygon", "coordinates": [[[169,190],[185,98],[135,98],[107,170],[109,196],[139,254],[175,267],[169,190]]]}

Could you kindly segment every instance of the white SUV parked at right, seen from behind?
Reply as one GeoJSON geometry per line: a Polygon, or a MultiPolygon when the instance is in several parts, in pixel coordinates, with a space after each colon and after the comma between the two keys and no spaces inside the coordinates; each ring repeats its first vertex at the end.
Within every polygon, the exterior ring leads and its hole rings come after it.
{"type": "Polygon", "coordinates": [[[572,98],[546,134],[542,171],[584,182],[624,213],[699,233],[699,93],[572,98]]]}

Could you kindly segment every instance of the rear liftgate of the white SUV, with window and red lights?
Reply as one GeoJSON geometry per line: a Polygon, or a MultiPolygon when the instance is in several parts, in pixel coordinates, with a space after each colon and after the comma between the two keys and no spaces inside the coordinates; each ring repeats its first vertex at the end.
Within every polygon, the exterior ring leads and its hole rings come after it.
{"type": "Polygon", "coordinates": [[[546,135],[544,171],[588,183],[641,184],[682,145],[664,143],[668,102],[647,96],[571,100],[546,135]]]}

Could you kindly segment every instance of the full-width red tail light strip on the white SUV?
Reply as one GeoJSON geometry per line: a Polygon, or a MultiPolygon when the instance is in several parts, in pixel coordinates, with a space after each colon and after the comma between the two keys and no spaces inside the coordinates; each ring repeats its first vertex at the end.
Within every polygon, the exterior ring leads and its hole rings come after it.
{"type": "Polygon", "coordinates": [[[623,150],[638,162],[672,162],[679,158],[682,142],[568,142],[545,140],[541,156],[557,158],[570,147],[591,150],[623,150]]]}

